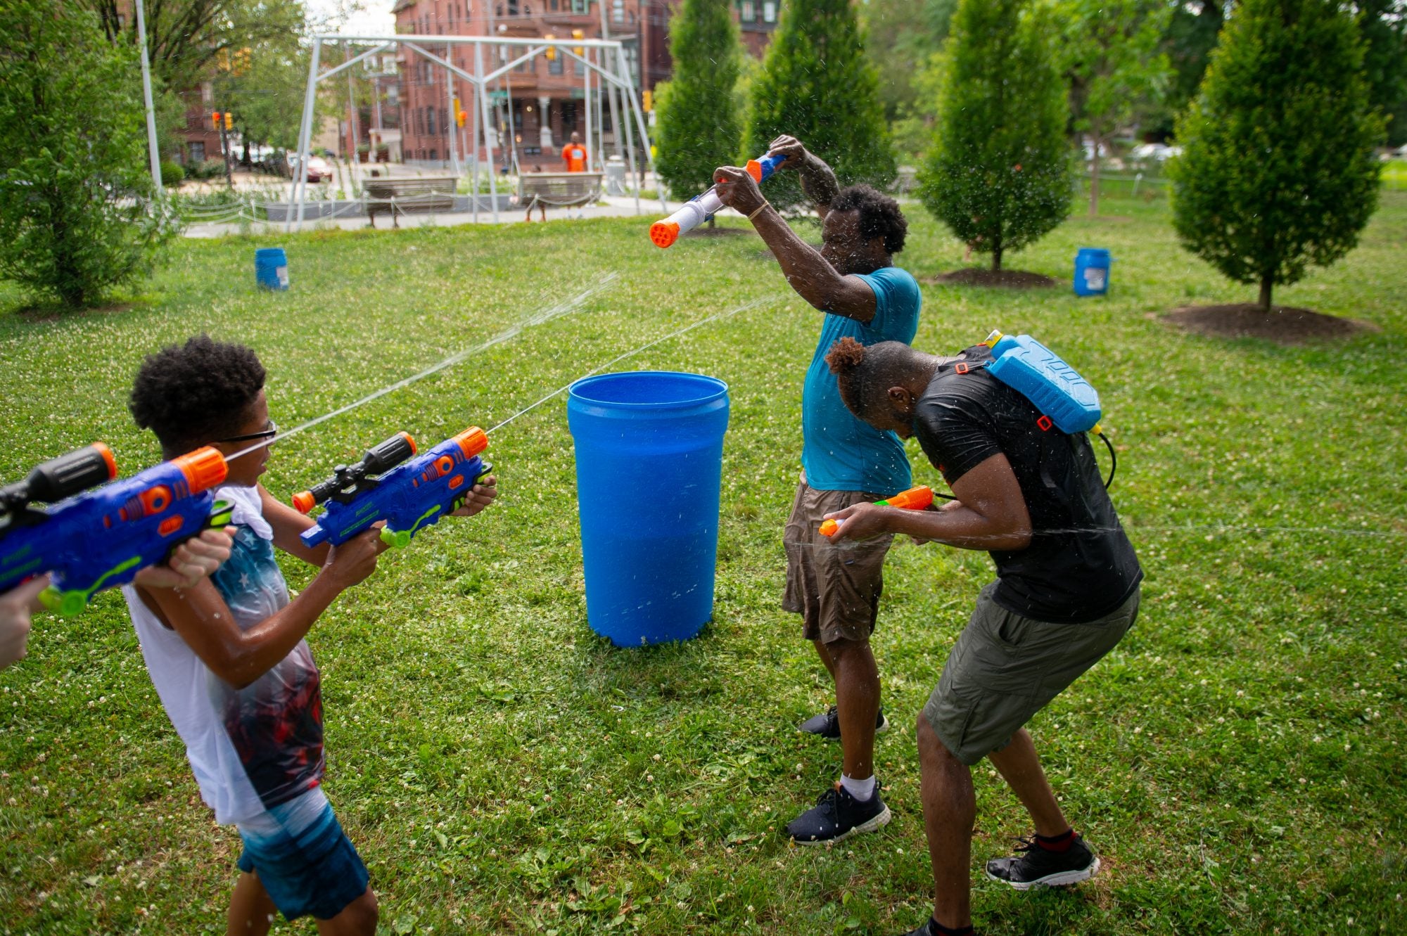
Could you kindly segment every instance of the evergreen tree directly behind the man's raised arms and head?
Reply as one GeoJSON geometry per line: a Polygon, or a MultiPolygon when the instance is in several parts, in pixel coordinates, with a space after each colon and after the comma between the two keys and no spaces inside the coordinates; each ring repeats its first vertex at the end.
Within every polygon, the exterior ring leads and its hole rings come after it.
{"type": "MultiPolygon", "coordinates": [[[[751,86],[741,155],[760,156],[791,134],[841,186],[885,188],[895,162],[878,89],[850,0],[788,0],[751,86]]],[[[778,208],[803,200],[796,173],[772,176],[764,191],[778,208]]]]}

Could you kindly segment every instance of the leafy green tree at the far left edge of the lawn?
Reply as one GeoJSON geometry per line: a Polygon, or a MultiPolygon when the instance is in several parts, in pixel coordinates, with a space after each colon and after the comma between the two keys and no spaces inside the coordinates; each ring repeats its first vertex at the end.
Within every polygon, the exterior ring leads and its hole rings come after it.
{"type": "Polygon", "coordinates": [[[136,56],[97,17],[14,0],[0,17],[0,278],[70,308],[145,275],[172,233],[152,178],[136,56]]]}

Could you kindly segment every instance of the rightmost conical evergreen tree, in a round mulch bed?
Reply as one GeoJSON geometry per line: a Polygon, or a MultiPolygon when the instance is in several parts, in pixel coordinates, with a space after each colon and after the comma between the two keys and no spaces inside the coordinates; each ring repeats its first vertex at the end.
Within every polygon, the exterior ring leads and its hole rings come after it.
{"type": "Polygon", "coordinates": [[[1237,282],[1276,284],[1358,243],[1377,207],[1382,117],[1358,24],[1334,0],[1245,0],[1221,30],[1169,167],[1183,246],[1237,282]]]}

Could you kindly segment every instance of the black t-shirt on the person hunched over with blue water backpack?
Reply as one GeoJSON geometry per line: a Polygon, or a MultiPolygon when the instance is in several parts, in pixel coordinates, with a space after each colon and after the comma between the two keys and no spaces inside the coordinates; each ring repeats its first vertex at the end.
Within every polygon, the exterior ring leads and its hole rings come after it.
{"type": "MultiPolygon", "coordinates": [[[[986,349],[981,349],[985,351],[986,349]]],[[[978,361],[978,349],[964,353],[978,361]]],[[[1041,430],[1041,413],[986,368],[958,374],[951,364],[917,401],[913,430],[951,485],[998,453],[1031,514],[1031,544],[992,550],[1002,607],[1038,621],[1082,623],[1109,614],[1142,579],[1138,557],[1104,492],[1085,433],[1041,430]]]]}

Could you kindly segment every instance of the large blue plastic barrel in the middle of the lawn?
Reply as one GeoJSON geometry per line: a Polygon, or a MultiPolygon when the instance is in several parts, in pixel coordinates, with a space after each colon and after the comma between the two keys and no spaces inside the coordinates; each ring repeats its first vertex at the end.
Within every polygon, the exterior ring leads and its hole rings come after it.
{"type": "Polygon", "coordinates": [[[630,371],[571,385],[567,426],[587,623],[616,646],[684,641],[713,617],[727,384],[630,371]]]}

